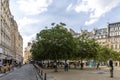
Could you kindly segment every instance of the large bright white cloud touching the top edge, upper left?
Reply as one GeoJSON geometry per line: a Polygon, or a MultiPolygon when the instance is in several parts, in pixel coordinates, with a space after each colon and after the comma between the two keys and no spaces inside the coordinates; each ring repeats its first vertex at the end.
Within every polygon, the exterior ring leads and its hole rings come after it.
{"type": "Polygon", "coordinates": [[[52,0],[18,0],[19,9],[26,15],[36,15],[47,11],[52,0]]]}

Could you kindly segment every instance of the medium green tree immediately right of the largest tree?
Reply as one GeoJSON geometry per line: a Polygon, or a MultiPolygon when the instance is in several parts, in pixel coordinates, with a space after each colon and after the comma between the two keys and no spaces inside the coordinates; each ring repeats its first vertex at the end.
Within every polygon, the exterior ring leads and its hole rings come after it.
{"type": "MultiPolygon", "coordinates": [[[[77,48],[76,48],[76,58],[80,58],[81,63],[83,60],[87,59],[95,59],[97,56],[97,48],[99,47],[98,43],[90,38],[86,34],[80,35],[77,40],[77,48]]],[[[81,69],[83,66],[81,64],[81,69]]]]}

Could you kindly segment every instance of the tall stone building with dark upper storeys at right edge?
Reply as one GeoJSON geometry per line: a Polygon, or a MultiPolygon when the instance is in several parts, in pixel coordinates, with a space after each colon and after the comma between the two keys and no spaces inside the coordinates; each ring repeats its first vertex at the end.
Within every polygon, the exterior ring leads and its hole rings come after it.
{"type": "Polygon", "coordinates": [[[120,22],[108,24],[108,46],[120,51],[120,22]]]}

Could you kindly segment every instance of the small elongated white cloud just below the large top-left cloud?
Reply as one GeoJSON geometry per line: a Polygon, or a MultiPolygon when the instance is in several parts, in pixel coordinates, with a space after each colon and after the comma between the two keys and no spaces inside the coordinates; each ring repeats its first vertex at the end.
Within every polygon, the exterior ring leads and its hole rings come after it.
{"type": "Polygon", "coordinates": [[[37,19],[31,19],[31,18],[23,17],[22,19],[20,19],[18,21],[18,25],[20,27],[23,27],[23,26],[38,23],[38,22],[39,22],[39,20],[37,20],[37,19]]]}

